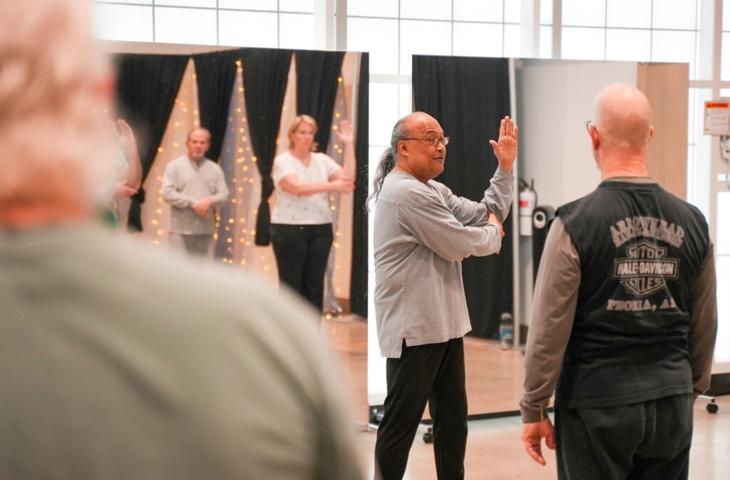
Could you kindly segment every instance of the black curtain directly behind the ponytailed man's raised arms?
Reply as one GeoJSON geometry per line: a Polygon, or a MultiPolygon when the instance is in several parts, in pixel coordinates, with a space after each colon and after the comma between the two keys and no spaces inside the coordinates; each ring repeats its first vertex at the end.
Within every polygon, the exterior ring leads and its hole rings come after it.
{"type": "MultiPolygon", "coordinates": [[[[480,200],[497,168],[489,140],[510,115],[507,59],[413,56],[415,110],[429,113],[451,137],[444,172],[437,180],[460,197],[480,200]]],[[[512,213],[504,221],[499,255],[462,262],[473,334],[499,336],[499,317],[512,312],[512,213]]]]}

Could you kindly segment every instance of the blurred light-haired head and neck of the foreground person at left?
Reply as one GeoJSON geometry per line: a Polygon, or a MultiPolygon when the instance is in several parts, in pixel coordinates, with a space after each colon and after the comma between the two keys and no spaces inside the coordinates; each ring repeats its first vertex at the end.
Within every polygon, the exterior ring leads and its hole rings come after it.
{"type": "Polygon", "coordinates": [[[93,202],[109,178],[102,89],[112,83],[88,9],[85,0],[0,1],[0,209],[93,202]]]}

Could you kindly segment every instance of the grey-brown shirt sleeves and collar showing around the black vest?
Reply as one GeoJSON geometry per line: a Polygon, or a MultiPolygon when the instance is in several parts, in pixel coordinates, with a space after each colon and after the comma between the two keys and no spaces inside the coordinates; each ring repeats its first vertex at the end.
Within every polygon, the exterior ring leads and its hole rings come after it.
{"type": "MultiPolygon", "coordinates": [[[[616,180],[647,182],[639,178],[616,180]]],[[[652,180],[653,181],[653,180],[652,180]]],[[[537,422],[555,391],[570,338],[580,286],[580,258],[558,217],[545,240],[535,283],[532,318],[525,354],[525,391],[520,400],[523,422],[537,422]]],[[[689,362],[695,394],[710,387],[710,367],[715,346],[715,258],[712,244],[693,286],[689,362]]]]}

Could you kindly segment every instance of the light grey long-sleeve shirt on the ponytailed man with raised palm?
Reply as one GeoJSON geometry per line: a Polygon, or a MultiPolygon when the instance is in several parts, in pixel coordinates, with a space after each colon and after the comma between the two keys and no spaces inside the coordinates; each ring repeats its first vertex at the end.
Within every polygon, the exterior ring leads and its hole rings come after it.
{"type": "Polygon", "coordinates": [[[497,169],[481,202],[456,197],[442,183],[404,172],[385,177],[374,218],[375,317],[380,353],[442,343],[472,329],[461,260],[502,246],[499,226],[512,204],[509,172],[497,169]]]}

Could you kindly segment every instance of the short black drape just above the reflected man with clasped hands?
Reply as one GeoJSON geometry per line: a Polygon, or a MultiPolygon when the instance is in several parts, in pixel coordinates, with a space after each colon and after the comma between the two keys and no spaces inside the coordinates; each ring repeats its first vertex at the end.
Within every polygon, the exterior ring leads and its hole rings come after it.
{"type": "Polygon", "coordinates": [[[231,90],[238,68],[236,61],[239,58],[239,50],[193,55],[198,78],[200,126],[210,130],[210,150],[206,156],[213,161],[218,161],[220,149],[223,148],[228,105],[231,103],[231,90]]]}

